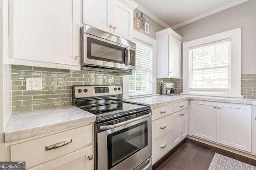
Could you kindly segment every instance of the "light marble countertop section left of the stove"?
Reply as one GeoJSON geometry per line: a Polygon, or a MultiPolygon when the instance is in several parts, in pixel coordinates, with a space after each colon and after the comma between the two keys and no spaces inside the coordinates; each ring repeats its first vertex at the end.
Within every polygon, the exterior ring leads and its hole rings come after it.
{"type": "Polygon", "coordinates": [[[42,135],[87,123],[95,115],[75,106],[13,112],[4,132],[5,142],[42,135]]]}

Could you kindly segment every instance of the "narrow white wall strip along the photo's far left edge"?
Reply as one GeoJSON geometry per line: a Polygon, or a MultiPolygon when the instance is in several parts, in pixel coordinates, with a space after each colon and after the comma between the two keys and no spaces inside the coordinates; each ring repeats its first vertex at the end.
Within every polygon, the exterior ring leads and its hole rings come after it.
{"type": "Polygon", "coordinates": [[[4,161],[4,130],[11,115],[11,66],[8,64],[8,0],[0,1],[0,161],[4,161]]]}

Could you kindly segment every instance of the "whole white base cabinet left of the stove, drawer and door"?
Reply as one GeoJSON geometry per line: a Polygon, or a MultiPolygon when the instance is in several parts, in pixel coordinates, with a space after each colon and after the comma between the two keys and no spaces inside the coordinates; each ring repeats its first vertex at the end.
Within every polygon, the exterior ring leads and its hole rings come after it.
{"type": "Polygon", "coordinates": [[[25,161],[29,170],[93,170],[92,143],[92,124],[88,124],[6,143],[6,161],[25,161]]]}

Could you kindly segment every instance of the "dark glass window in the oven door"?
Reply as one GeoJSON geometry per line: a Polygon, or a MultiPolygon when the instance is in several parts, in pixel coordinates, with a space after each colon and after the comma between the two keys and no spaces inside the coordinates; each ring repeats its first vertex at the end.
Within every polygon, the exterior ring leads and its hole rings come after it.
{"type": "Polygon", "coordinates": [[[108,169],[148,146],[148,121],[111,133],[108,141],[108,169]]]}

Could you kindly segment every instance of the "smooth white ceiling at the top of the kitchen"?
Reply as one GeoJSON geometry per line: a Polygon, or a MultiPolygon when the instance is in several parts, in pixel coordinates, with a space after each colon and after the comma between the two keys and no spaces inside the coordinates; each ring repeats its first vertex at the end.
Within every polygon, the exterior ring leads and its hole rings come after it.
{"type": "Polygon", "coordinates": [[[172,29],[246,1],[248,0],[134,0],[139,4],[138,10],[152,19],[164,21],[165,27],[172,29]]]}

